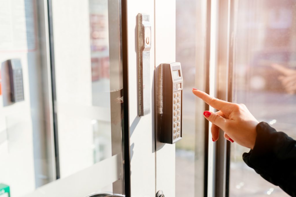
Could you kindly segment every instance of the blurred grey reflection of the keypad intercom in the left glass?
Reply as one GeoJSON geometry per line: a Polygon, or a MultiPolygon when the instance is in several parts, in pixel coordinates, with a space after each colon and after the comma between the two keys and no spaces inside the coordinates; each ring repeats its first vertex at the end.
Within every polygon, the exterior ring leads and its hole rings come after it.
{"type": "Polygon", "coordinates": [[[22,79],[22,64],[20,59],[7,60],[10,84],[11,102],[24,100],[24,86],[22,79]]]}

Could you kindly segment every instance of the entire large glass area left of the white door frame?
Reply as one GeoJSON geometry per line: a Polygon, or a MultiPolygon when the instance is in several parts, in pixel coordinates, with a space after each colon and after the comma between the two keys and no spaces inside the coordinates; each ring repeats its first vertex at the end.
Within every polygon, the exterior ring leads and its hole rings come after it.
{"type": "Polygon", "coordinates": [[[47,3],[1,1],[0,196],[123,194],[120,0],[47,3]]]}

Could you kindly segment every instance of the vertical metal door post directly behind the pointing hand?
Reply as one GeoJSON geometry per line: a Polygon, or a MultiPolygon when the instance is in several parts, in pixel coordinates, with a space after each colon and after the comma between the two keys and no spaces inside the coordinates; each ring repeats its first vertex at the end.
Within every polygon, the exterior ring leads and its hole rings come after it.
{"type": "MultiPolygon", "coordinates": [[[[233,1],[219,0],[218,27],[218,80],[217,97],[228,102],[232,101],[232,60],[233,60],[233,1]]],[[[216,146],[215,196],[229,196],[230,142],[223,139],[220,131],[216,146]]]]}

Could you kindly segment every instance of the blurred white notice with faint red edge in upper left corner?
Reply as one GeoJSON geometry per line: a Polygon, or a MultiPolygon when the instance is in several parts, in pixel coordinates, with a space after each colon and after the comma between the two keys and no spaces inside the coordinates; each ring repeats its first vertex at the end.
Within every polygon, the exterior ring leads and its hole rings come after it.
{"type": "Polygon", "coordinates": [[[36,0],[0,0],[0,51],[34,51],[36,0]]]}

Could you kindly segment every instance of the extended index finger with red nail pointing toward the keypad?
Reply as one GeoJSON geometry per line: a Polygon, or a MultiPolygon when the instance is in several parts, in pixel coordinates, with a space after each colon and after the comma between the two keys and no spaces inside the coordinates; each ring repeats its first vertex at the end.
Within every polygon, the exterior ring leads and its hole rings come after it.
{"type": "Polygon", "coordinates": [[[192,90],[193,94],[200,97],[203,101],[205,101],[207,104],[209,104],[210,106],[212,106],[213,108],[220,110],[221,112],[224,113],[230,113],[231,112],[231,107],[232,104],[231,102],[227,102],[224,100],[219,100],[215,97],[211,97],[210,95],[208,95],[205,92],[202,92],[200,90],[192,90]]]}

